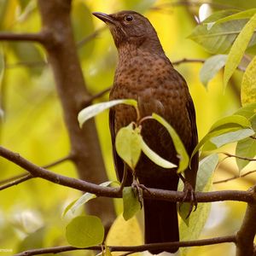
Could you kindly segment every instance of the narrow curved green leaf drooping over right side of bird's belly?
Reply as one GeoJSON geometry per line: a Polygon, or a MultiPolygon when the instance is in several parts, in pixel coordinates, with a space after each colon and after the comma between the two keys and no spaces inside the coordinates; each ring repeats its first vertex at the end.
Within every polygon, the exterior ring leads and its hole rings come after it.
{"type": "Polygon", "coordinates": [[[165,126],[166,130],[169,132],[170,136],[172,137],[172,142],[177,151],[177,154],[180,157],[177,172],[183,172],[189,166],[189,155],[187,153],[186,148],[183,145],[183,142],[178,137],[177,132],[172,128],[172,125],[168,124],[165,119],[160,117],[160,115],[153,113],[152,118],[160,122],[161,125],[165,126]]]}

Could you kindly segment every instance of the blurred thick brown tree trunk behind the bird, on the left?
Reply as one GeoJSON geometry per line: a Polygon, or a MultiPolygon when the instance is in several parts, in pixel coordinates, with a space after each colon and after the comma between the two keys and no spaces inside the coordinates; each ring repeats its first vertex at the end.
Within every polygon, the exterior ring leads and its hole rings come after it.
{"type": "MultiPolygon", "coordinates": [[[[91,183],[102,183],[108,179],[102,160],[96,125],[90,120],[79,128],[77,115],[82,103],[90,98],[84,84],[83,73],[73,39],[70,20],[71,0],[38,0],[43,31],[51,40],[44,41],[49,64],[53,68],[56,89],[61,99],[64,119],[71,143],[73,162],[79,177],[91,183]]],[[[102,218],[109,226],[115,218],[113,202],[97,199],[88,204],[87,212],[102,218]]]]}

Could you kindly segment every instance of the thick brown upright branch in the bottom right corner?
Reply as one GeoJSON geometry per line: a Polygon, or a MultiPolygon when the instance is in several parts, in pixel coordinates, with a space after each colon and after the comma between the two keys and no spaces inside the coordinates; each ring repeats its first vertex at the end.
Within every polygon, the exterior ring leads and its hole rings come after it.
{"type": "MultiPolygon", "coordinates": [[[[253,188],[253,193],[256,189],[253,188]]],[[[236,256],[253,256],[253,240],[256,234],[256,203],[247,204],[247,212],[236,234],[236,256]]]]}

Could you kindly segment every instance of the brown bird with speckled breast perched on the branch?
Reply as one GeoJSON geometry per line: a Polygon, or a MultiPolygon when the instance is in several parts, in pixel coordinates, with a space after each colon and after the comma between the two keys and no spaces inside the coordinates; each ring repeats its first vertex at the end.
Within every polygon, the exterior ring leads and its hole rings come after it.
{"type": "MultiPolygon", "coordinates": [[[[137,100],[142,118],[152,113],[160,114],[174,127],[191,155],[197,143],[194,104],[186,81],[166,57],[154,27],[146,17],[134,11],[93,15],[108,24],[118,49],[119,60],[110,100],[137,100]]],[[[121,127],[136,120],[137,113],[130,106],[119,105],[109,113],[113,156],[119,180],[123,177],[124,162],[114,148],[115,136],[121,127]]],[[[142,136],[154,152],[178,165],[179,159],[172,138],[162,125],[153,119],[144,121],[142,136]]],[[[197,168],[198,155],[195,155],[190,168],[185,171],[185,184],[190,184],[193,189],[197,168]]],[[[139,183],[148,188],[177,190],[177,169],[157,166],[145,154],[140,156],[137,163],[136,176],[139,183]]],[[[132,174],[128,172],[125,185],[131,183],[132,174]]],[[[143,201],[143,207],[146,243],[179,241],[176,202],[147,199],[143,201]]],[[[175,253],[177,249],[166,251],[175,253]]],[[[150,253],[162,251],[150,250],[150,253]]]]}

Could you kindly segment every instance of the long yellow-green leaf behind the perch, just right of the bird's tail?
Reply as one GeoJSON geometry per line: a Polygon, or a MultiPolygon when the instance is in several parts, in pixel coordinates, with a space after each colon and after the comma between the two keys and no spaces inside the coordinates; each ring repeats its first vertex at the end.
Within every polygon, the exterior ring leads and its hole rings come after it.
{"type": "MultiPolygon", "coordinates": [[[[212,177],[218,165],[218,155],[210,154],[200,161],[196,179],[196,191],[208,192],[212,190],[212,177]]],[[[181,222],[179,225],[180,240],[197,240],[201,230],[207,222],[211,203],[199,203],[195,212],[189,216],[189,225],[181,222]]],[[[188,220],[186,220],[188,222],[188,220]]],[[[180,255],[186,255],[188,248],[180,248],[180,255]]]]}

